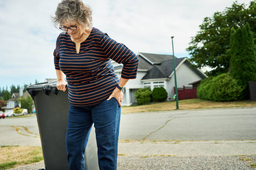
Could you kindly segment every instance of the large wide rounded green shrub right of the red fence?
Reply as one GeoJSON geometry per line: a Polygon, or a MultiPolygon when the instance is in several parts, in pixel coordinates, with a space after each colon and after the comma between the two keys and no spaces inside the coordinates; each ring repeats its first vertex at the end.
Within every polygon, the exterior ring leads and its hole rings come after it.
{"type": "Polygon", "coordinates": [[[208,77],[197,87],[197,96],[200,99],[214,101],[238,100],[243,89],[238,85],[237,80],[223,73],[217,77],[208,77]]]}

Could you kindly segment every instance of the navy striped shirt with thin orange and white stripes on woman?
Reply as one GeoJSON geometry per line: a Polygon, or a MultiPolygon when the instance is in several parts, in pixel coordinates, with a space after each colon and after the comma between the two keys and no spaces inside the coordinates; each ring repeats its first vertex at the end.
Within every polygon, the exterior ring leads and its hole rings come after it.
{"type": "Polygon", "coordinates": [[[67,32],[57,37],[54,65],[56,70],[66,75],[71,105],[96,105],[111,95],[119,78],[110,59],[123,64],[121,77],[136,78],[137,55],[107,33],[92,28],[90,35],[81,43],[79,53],[67,32]]]}

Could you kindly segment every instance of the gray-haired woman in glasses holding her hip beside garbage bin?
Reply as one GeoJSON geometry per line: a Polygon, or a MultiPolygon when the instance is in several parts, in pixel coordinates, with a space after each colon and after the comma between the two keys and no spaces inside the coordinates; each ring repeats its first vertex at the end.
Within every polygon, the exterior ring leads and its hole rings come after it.
{"type": "Polygon", "coordinates": [[[123,87],[135,79],[138,57],[92,27],[92,11],[81,0],[62,0],[53,17],[64,30],[56,40],[58,90],[69,87],[66,147],[69,170],[84,170],[84,150],[95,126],[100,170],[116,170],[123,87]],[[120,80],[111,61],[123,64],[120,80]]]}

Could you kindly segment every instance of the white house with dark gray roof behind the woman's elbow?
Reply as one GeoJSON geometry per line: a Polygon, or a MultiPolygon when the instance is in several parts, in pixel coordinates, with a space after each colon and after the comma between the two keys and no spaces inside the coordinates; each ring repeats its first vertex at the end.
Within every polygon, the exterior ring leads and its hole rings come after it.
{"type": "MultiPolygon", "coordinates": [[[[136,102],[135,92],[143,87],[164,87],[168,93],[167,101],[174,100],[174,67],[172,55],[151,53],[138,53],[139,63],[136,79],[131,79],[125,85],[122,105],[129,106],[136,102]]],[[[193,64],[187,57],[175,58],[177,87],[191,87],[191,82],[207,77],[202,70],[192,67],[193,64]]],[[[120,78],[122,64],[112,61],[115,73],[120,78]]]]}

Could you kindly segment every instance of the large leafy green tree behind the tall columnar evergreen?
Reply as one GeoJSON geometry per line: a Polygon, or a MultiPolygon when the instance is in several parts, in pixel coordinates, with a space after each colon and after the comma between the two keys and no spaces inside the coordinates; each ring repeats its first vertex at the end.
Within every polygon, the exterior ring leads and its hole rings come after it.
{"type": "MultiPolygon", "coordinates": [[[[251,26],[253,37],[256,39],[256,0],[250,2],[248,8],[244,4],[233,2],[231,7],[226,7],[223,12],[215,12],[206,17],[199,26],[200,31],[192,37],[187,51],[190,60],[196,67],[211,67],[207,75],[220,75],[227,72],[230,60],[230,31],[248,22],[251,26]]],[[[256,41],[255,41],[256,42],[256,41]]]]}

